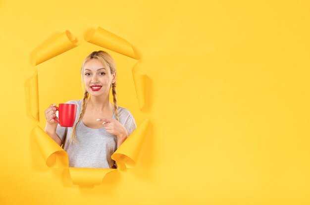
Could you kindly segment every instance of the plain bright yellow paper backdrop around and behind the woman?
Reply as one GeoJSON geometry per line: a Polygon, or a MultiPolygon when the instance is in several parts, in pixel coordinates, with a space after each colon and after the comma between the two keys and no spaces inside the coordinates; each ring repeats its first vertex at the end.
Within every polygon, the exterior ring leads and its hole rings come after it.
{"type": "MultiPolygon", "coordinates": [[[[1,1],[0,204],[310,204],[309,8],[303,0],[1,1]],[[98,26],[139,51],[138,64],[111,52],[118,105],[152,126],[135,167],[77,186],[46,166],[25,85],[37,46],[66,30],[81,40],[98,26]],[[146,74],[145,102],[133,66],[146,74]]],[[[46,91],[69,82],[68,100],[82,97],[80,66],[93,48],[37,66],[40,127],[41,110],[65,95],[46,91]]]]}

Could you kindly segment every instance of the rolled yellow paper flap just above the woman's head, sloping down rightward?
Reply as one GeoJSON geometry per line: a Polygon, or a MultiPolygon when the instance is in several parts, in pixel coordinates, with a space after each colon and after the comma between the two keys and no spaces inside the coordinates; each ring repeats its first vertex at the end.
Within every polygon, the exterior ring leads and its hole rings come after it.
{"type": "Polygon", "coordinates": [[[101,27],[98,27],[97,30],[89,30],[84,35],[84,38],[85,41],[89,43],[138,59],[134,49],[128,41],[101,27]]]}

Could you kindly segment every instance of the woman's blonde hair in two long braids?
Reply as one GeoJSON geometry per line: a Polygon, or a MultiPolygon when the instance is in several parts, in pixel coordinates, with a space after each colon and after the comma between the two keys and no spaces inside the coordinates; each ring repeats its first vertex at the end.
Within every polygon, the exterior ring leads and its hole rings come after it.
{"type": "MultiPolygon", "coordinates": [[[[87,105],[87,102],[89,99],[89,93],[87,92],[87,90],[84,87],[83,71],[84,71],[85,63],[88,62],[90,59],[93,59],[93,58],[100,60],[101,63],[103,64],[103,66],[109,67],[111,74],[116,72],[115,62],[114,62],[113,58],[111,57],[111,55],[109,55],[106,51],[94,51],[91,54],[89,54],[85,58],[85,60],[83,61],[82,67],[81,67],[81,79],[82,79],[82,88],[84,91],[84,97],[83,97],[83,101],[82,101],[82,107],[81,107],[81,112],[80,112],[79,118],[78,118],[77,122],[75,123],[74,128],[72,130],[70,143],[72,141],[74,141],[75,143],[78,143],[76,141],[76,138],[75,138],[75,130],[76,130],[77,124],[79,123],[79,121],[82,119],[82,117],[84,115],[84,112],[86,110],[86,105],[87,105]]],[[[118,110],[117,110],[118,106],[117,106],[117,99],[116,99],[116,79],[115,79],[115,82],[112,83],[110,87],[112,87],[115,115],[116,115],[116,120],[118,121],[118,110]]]]}

